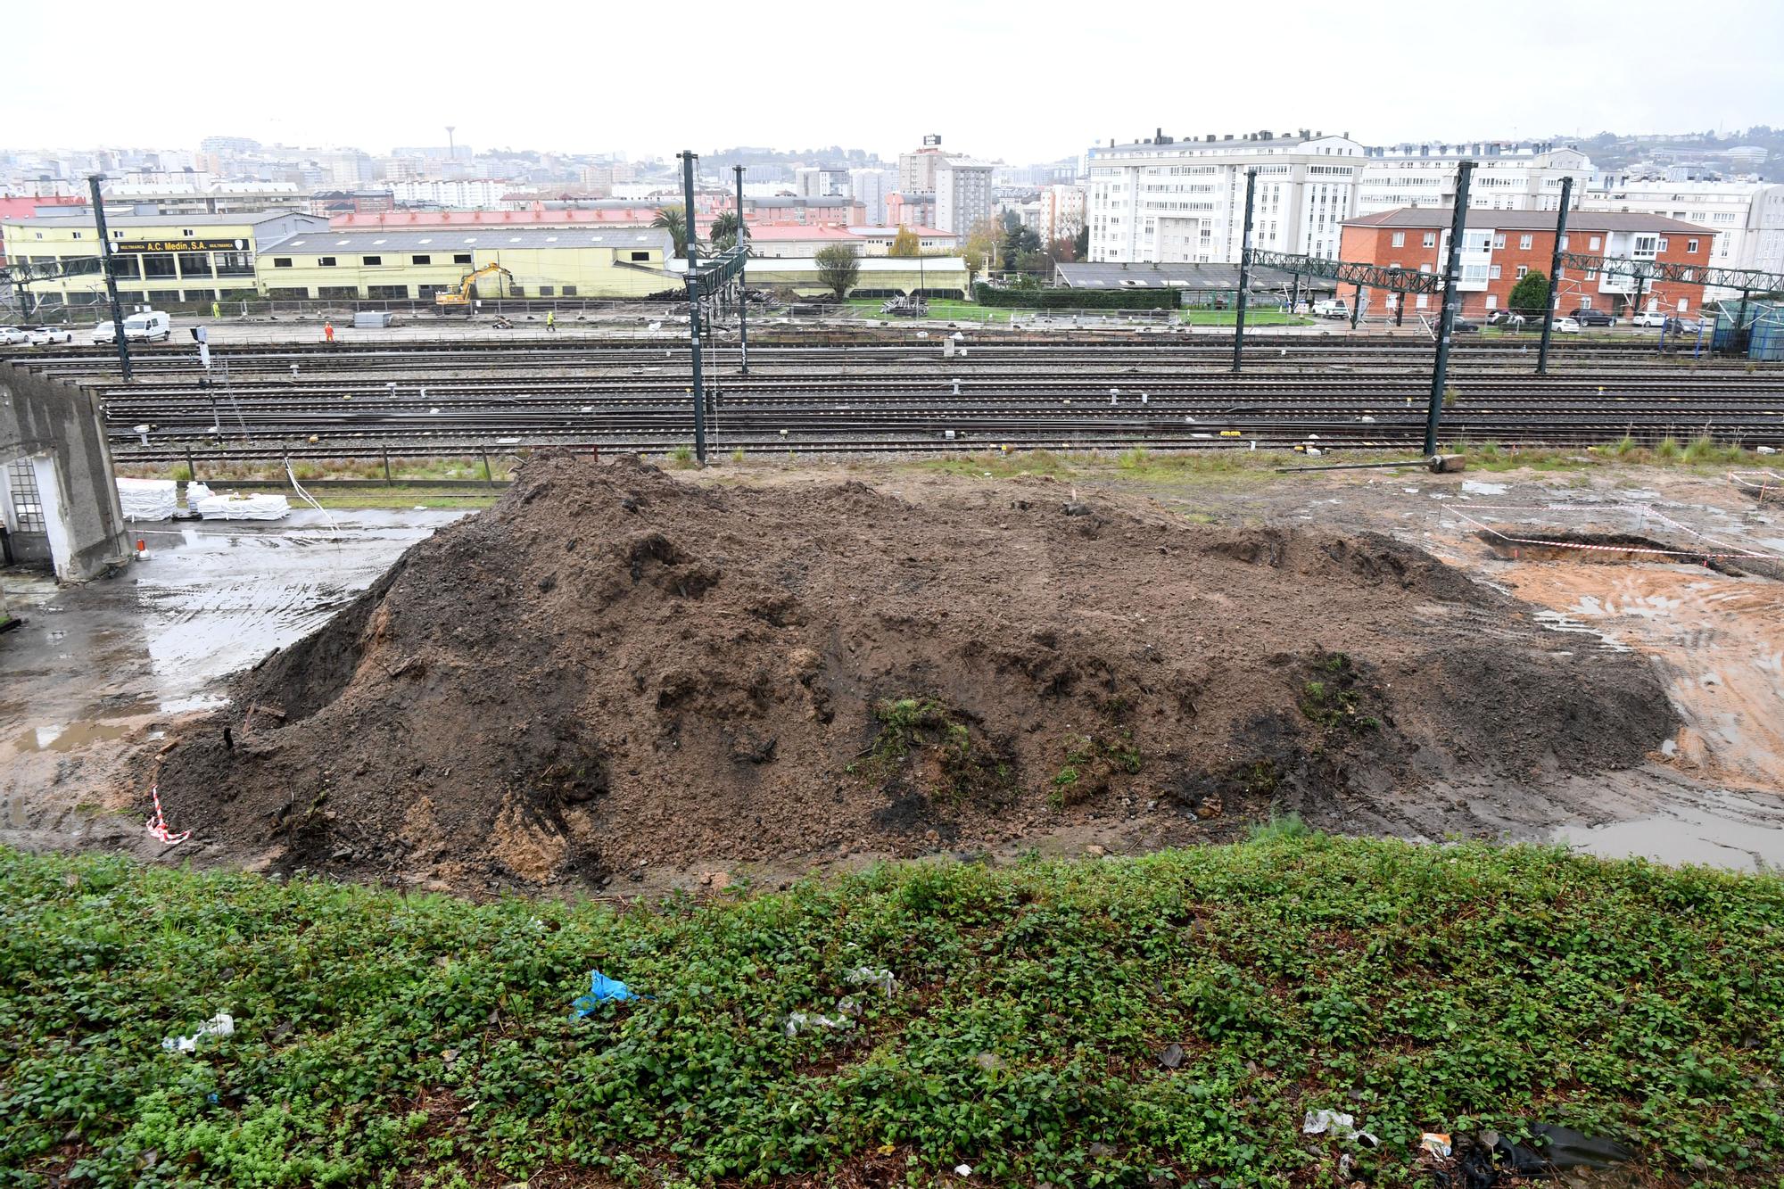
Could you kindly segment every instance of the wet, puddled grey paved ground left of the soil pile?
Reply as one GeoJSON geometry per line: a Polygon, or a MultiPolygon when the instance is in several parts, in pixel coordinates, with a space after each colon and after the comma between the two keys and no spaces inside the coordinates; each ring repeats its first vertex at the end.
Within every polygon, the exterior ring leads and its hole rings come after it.
{"type": "Polygon", "coordinates": [[[0,637],[0,841],[143,848],[148,791],[123,780],[127,746],[219,703],[230,673],[316,628],[460,514],[134,525],[146,552],[123,577],[57,589],[32,571],[0,571],[25,621],[0,637]]]}

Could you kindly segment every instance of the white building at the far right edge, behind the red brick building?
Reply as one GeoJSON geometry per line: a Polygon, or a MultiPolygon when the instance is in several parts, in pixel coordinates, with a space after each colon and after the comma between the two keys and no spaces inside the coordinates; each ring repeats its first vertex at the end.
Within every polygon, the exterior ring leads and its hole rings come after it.
{"type": "Polygon", "coordinates": [[[1784,273],[1784,184],[1779,182],[1668,182],[1598,173],[1579,205],[1586,211],[1664,214],[1709,227],[1716,232],[1711,264],[1784,273]]]}

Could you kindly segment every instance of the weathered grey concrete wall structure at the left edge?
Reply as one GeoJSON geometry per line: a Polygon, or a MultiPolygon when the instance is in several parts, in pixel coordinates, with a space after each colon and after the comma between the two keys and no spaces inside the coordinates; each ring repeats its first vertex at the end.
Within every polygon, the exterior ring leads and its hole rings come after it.
{"type": "Polygon", "coordinates": [[[46,380],[23,364],[0,368],[0,462],[12,459],[32,459],[45,516],[57,521],[46,534],[61,553],[57,578],[95,578],[128,559],[98,393],[46,380]]]}

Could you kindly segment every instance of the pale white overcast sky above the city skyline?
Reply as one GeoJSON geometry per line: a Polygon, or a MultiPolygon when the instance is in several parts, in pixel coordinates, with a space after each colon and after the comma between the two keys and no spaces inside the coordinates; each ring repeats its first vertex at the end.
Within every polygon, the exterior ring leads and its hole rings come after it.
{"type": "Polygon", "coordinates": [[[1037,162],[1156,127],[1675,132],[1784,125],[1780,52],[1784,0],[39,2],[7,16],[0,143],[384,154],[453,123],[475,148],[892,155],[938,132],[1037,162]]]}

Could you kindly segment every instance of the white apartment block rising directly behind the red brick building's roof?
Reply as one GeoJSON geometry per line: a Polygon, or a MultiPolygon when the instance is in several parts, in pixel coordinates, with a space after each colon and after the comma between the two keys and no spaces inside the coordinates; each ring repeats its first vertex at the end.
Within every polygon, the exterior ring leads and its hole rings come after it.
{"type": "Polygon", "coordinates": [[[1425,141],[1363,150],[1356,214],[1456,204],[1456,162],[1474,161],[1470,211],[1559,211],[1561,179],[1573,177],[1573,205],[1591,175],[1577,148],[1550,141],[1425,141]]]}

